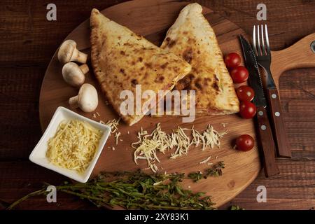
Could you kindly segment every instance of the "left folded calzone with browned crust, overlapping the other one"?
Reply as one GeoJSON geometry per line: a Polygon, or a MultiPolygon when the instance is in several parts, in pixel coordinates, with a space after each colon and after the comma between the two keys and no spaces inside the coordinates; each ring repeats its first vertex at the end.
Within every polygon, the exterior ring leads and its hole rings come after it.
{"type": "MultiPolygon", "coordinates": [[[[136,85],[141,90],[172,90],[175,83],[189,73],[191,66],[180,57],[162,50],[144,37],[106,18],[93,9],[91,25],[91,61],[102,91],[123,118],[133,125],[143,116],[120,113],[120,92],[130,90],[135,96],[136,85]]],[[[146,99],[141,101],[141,105],[146,99]]],[[[134,105],[134,112],[136,107],[134,105]]]]}

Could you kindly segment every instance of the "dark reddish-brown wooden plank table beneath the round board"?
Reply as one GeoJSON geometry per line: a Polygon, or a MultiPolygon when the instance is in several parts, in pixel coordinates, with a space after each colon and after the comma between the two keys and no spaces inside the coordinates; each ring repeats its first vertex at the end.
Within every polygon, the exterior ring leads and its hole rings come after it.
{"type": "MultiPolygon", "coordinates": [[[[38,98],[50,58],[92,8],[123,0],[61,1],[57,21],[46,20],[47,1],[1,1],[0,6],[0,199],[2,204],[38,189],[41,181],[60,183],[63,176],[29,162],[41,137],[38,98]]],[[[198,1],[251,34],[261,1],[198,1]]],[[[272,50],[280,50],[315,31],[315,1],[266,0],[272,50]]],[[[263,172],[231,204],[245,209],[314,209],[315,207],[315,69],[283,73],[280,94],[293,158],[279,159],[281,174],[265,179],[263,172]],[[266,186],[267,202],[258,203],[258,186],[266,186]]],[[[0,209],[3,208],[0,205],[0,209]]],[[[36,197],[18,209],[94,209],[88,202],[62,195],[56,204],[36,197]]]]}

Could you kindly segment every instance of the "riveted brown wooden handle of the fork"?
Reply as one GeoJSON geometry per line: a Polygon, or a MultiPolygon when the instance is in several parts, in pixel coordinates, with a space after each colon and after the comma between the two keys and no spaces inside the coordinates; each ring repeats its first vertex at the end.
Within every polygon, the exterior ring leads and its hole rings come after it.
{"type": "Polygon", "coordinates": [[[267,99],[269,102],[270,117],[272,118],[273,133],[276,140],[276,153],[281,158],[291,158],[288,137],[283,123],[283,113],[276,89],[267,89],[267,99]]]}

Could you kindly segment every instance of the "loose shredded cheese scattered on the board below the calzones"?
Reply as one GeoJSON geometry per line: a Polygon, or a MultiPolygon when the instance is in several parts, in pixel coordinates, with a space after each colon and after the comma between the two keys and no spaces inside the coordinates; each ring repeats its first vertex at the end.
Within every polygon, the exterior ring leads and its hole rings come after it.
{"type": "MultiPolygon", "coordinates": [[[[147,160],[148,168],[153,172],[158,171],[158,167],[155,165],[155,161],[160,162],[157,152],[165,153],[165,151],[175,148],[175,151],[171,154],[171,159],[176,159],[182,155],[188,155],[190,146],[194,145],[198,147],[202,145],[202,151],[205,148],[214,148],[214,146],[220,147],[220,140],[227,132],[219,133],[214,130],[214,127],[208,125],[207,130],[198,132],[192,127],[192,129],[177,127],[171,134],[166,134],[161,129],[160,123],[151,134],[143,130],[138,132],[138,141],[132,143],[134,151],[134,162],[138,165],[137,160],[147,160]],[[191,131],[192,139],[186,134],[185,131],[191,131]]],[[[208,162],[210,158],[206,161],[208,162]]],[[[206,163],[204,162],[204,163],[206,163]]]]}

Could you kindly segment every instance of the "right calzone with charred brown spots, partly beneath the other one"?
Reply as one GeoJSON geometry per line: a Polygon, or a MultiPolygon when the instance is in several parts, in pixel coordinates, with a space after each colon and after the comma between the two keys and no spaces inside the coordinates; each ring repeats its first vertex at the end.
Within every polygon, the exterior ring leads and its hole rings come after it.
{"type": "Polygon", "coordinates": [[[235,87],[214,30],[202,15],[202,6],[191,3],[181,10],[161,48],[183,57],[193,67],[176,83],[176,89],[196,90],[197,115],[239,111],[235,87]]]}

